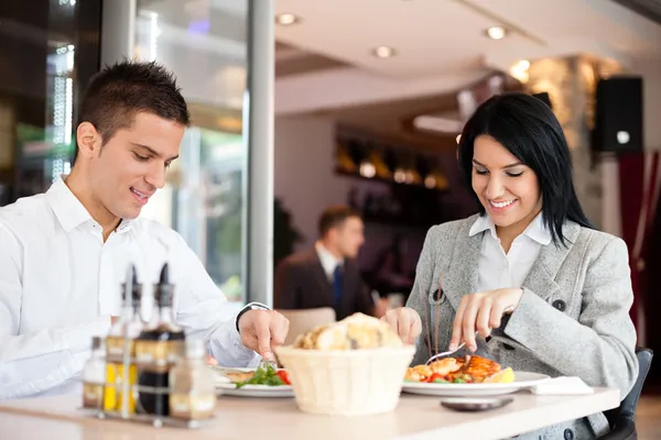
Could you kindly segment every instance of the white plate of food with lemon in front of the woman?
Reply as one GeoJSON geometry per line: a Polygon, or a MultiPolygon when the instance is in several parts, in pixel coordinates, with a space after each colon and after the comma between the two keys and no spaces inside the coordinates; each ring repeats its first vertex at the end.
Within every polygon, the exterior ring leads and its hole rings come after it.
{"type": "Polygon", "coordinates": [[[545,374],[514,372],[486,358],[446,358],[407,371],[402,392],[426,396],[500,396],[548,381],[545,374]]]}

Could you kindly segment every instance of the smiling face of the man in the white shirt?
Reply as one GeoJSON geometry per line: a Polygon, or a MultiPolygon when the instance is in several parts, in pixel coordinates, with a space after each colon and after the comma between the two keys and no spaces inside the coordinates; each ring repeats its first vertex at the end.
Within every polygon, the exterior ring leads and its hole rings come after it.
{"type": "Polygon", "coordinates": [[[118,130],[89,161],[94,197],[110,213],[134,219],[178,156],[185,127],[151,113],[138,113],[133,124],[118,130]]]}

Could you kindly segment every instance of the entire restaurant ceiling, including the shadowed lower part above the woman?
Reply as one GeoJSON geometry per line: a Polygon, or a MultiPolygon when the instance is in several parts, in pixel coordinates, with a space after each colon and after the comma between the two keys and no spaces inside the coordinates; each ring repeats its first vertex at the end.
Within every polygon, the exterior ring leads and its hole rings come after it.
{"type": "Polygon", "coordinates": [[[661,59],[661,25],[611,0],[275,0],[275,12],[301,19],[275,26],[277,114],[323,114],[421,144],[438,140],[402,121],[456,118],[457,91],[520,59],[661,59]],[[508,36],[488,38],[495,25],[508,36]],[[395,56],[373,56],[381,45],[395,56]],[[288,57],[311,68],[280,68],[288,57]]]}

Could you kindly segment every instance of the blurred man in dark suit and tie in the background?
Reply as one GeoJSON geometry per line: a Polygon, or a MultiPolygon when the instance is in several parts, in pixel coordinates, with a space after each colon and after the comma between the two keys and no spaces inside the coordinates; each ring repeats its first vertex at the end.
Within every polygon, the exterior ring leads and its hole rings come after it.
{"type": "Polygon", "coordinates": [[[275,308],[333,307],[338,320],[357,311],[375,315],[375,301],[355,260],[365,242],[360,216],[348,207],[333,206],[322,213],[318,228],[314,249],[279,264],[275,308]]]}

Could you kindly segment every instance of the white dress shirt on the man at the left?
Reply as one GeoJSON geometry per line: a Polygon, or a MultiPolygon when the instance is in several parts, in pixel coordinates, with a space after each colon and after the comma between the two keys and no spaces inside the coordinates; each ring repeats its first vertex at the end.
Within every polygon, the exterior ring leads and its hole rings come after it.
{"type": "MultiPolygon", "coordinates": [[[[0,209],[0,399],[65,394],[93,336],[120,314],[129,264],[151,311],[162,265],[175,285],[173,311],[187,337],[204,337],[221,365],[254,364],[236,314],[201,261],[172,229],[122,220],[104,243],[101,227],[59,179],[47,193],[0,209]]],[[[144,315],[143,315],[144,316],[144,315]]]]}

